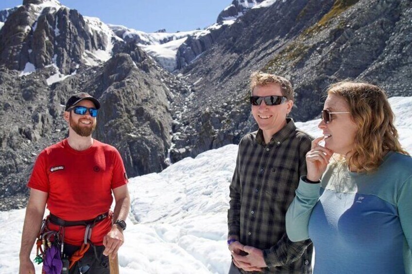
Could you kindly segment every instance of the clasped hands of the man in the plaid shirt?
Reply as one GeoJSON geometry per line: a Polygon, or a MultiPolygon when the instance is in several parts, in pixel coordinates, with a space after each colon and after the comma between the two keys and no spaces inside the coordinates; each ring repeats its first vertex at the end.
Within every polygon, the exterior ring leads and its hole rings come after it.
{"type": "Polygon", "coordinates": [[[241,250],[246,255],[232,254],[233,263],[245,271],[262,271],[262,268],[267,267],[263,259],[263,251],[248,245],[244,245],[241,250]]]}

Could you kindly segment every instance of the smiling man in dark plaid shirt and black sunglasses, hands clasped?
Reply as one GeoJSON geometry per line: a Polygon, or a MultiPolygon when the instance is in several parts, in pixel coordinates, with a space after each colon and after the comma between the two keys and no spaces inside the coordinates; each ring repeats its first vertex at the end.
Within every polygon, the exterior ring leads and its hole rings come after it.
{"type": "Polygon", "coordinates": [[[299,177],[306,175],[305,156],[312,138],[286,118],[293,106],[288,80],[255,72],[251,90],[259,129],[240,141],[230,184],[229,274],[310,274],[311,242],[288,239],[285,215],[299,177]]]}

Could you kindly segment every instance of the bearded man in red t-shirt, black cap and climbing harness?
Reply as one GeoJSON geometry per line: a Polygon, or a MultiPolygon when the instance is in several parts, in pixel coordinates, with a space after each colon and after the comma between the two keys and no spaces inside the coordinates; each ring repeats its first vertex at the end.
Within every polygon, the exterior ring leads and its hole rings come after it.
{"type": "MultiPolygon", "coordinates": [[[[45,148],[37,157],[28,183],[20,274],[34,274],[30,253],[46,204],[50,210],[46,230],[58,231],[63,238],[61,256],[72,258],[79,250],[84,253],[72,263],[69,273],[109,273],[107,256],[115,256],[124,241],[130,197],[119,152],[91,137],[99,108],[100,102],[87,93],[70,97],[64,113],[69,137],[45,148]],[[112,193],[116,202],[113,213],[109,211],[112,193]]],[[[43,270],[45,267],[46,261],[43,270]]]]}

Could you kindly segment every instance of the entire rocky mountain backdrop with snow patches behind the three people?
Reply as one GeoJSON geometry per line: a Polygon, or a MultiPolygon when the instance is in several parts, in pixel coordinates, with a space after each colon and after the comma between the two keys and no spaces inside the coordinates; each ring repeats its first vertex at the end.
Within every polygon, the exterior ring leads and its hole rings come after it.
{"type": "Polygon", "coordinates": [[[410,0],[234,0],[205,30],[147,36],[24,0],[0,12],[0,209],[24,205],[37,154],[67,135],[71,93],[101,100],[95,137],[119,149],[129,177],[158,172],[256,129],[255,70],[292,81],[298,121],[346,78],[411,96],[411,17],[410,0]]]}

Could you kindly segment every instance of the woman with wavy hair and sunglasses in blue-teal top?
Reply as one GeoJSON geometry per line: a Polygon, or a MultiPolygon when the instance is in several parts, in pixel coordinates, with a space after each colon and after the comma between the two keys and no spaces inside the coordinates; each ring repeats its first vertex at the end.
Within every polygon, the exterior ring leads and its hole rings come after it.
{"type": "Polygon", "coordinates": [[[289,238],[314,244],[314,274],[412,273],[412,158],[394,118],[375,85],[327,89],[323,136],[286,215],[289,238]]]}

